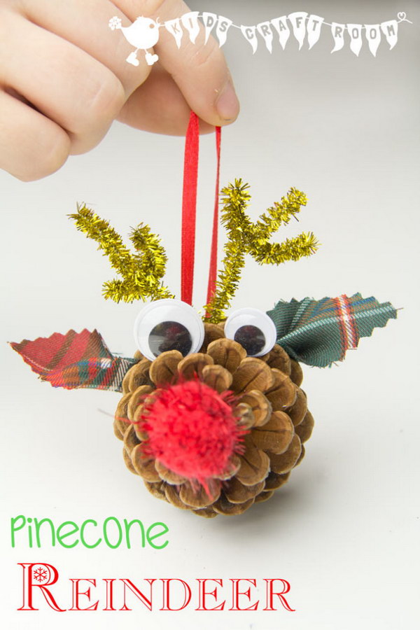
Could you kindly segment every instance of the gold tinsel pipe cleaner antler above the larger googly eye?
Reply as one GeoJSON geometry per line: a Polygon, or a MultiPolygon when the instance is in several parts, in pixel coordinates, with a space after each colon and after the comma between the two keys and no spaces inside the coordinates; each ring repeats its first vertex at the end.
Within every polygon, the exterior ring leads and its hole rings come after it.
{"type": "Polygon", "coordinates": [[[69,215],[80,232],[97,241],[99,249],[109,257],[111,267],[123,276],[123,280],[104,283],[104,297],[115,302],[134,300],[160,300],[174,297],[161,279],[165,275],[167,255],[160,239],[148,225],[140,223],[132,229],[130,241],[139,253],[132,254],[123,244],[120,235],[104,219],[85,205],[77,207],[77,213],[69,215]]]}

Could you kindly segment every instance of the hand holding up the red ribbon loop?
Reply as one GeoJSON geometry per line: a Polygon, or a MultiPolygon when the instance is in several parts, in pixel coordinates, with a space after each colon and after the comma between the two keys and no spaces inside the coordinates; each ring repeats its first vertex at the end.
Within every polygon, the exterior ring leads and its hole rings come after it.
{"type": "MultiPolygon", "coordinates": [[[[126,62],[133,46],[109,29],[139,15],[160,22],[188,12],[181,0],[2,0],[0,168],[22,181],[86,153],[114,119],[138,129],[183,134],[190,109],[202,132],[231,123],[239,103],[223,53],[204,28],[195,44],[159,29],[159,61],[126,62]]],[[[153,53],[153,50],[151,51],[153,53]]]]}

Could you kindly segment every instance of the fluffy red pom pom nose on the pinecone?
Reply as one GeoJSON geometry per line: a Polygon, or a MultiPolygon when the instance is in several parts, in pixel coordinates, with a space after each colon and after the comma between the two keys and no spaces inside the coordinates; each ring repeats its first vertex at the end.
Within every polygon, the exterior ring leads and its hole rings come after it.
{"type": "Polygon", "coordinates": [[[230,393],[218,394],[198,379],[155,391],[144,407],[144,453],[204,486],[232,468],[242,435],[230,393]]]}

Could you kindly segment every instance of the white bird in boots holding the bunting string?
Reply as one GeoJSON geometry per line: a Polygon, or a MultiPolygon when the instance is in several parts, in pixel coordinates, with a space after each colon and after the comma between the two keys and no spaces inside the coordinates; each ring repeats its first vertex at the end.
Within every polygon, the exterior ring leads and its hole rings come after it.
{"type": "Polygon", "coordinates": [[[128,43],[136,49],[130,52],[130,55],[125,59],[129,64],[133,66],[139,65],[140,62],[137,58],[137,52],[139,52],[139,50],[144,51],[146,64],[148,64],[148,66],[153,66],[153,64],[158,61],[158,55],[155,55],[154,52],[150,52],[150,49],[159,41],[159,18],[155,21],[151,18],[144,18],[143,15],[141,15],[132,25],[123,27],[120,18],[114,16],[109,20],[108,25],[111,31],[123,31],[123,35],[128,43]]]}

